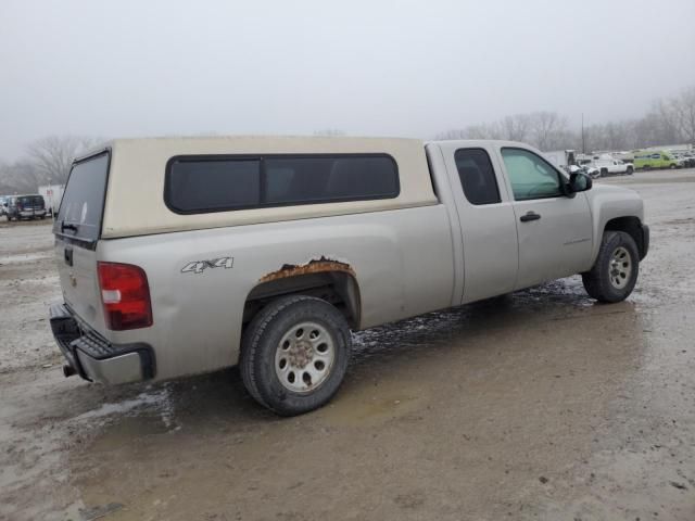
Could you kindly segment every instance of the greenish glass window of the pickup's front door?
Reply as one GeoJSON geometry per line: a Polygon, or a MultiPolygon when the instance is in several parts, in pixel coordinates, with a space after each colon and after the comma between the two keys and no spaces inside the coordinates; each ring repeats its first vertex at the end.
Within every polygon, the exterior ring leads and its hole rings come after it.
{"type": "Polygon", "coordinates": [[[508,148],[502,149],[502,157],[516,201],[563,195],[559,173],[542,157],[528,150],[508,148]]]}

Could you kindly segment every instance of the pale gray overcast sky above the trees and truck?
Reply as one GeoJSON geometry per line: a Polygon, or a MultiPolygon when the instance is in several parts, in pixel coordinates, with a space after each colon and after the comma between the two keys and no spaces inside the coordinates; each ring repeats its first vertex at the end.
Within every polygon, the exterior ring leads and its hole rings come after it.
{"type": "Polygon", "coordinates": [[[0,0],[0,24],[7,160],[52,134],[604,122],[695,85],[694,0],[0,0]]]}

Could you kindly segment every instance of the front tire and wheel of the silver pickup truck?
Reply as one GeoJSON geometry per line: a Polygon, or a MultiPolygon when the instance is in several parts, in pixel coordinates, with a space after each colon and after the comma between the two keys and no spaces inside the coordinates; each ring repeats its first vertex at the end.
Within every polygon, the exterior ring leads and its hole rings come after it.
{"type": "Polygon", "coordinates": [[[582,274],[589,296],[598,302],[624,301],[637,282],[640,253],[634,239],[624,231],[606,231],[591,271],[582,274]]]}

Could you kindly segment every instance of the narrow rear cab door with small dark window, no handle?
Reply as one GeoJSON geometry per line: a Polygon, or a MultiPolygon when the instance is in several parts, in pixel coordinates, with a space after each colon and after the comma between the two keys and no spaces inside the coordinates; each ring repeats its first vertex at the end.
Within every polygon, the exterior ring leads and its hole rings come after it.
{"type": "Polygon", "coordinates": [[[495,150],[486,142],[440,143],[460,223],[463,302],[514,290],[517,230],[495,150]]]}

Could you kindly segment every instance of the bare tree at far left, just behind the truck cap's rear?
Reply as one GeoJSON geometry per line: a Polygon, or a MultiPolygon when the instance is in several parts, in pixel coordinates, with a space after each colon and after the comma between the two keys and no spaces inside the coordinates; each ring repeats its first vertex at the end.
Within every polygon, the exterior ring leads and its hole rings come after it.
{"type": "Polygon", "coordinates": [[[94,144],[91,138],[49,136],[27,147],[27,155],[39,176],[37,181],[63,183],[73,160],[94,144]]]}

